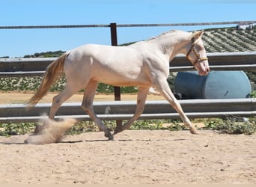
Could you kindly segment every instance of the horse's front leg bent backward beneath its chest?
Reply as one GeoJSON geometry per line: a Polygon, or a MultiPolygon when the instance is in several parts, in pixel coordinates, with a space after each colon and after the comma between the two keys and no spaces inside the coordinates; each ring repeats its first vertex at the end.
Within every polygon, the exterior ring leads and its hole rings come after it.
{"type": "Polygon", "coordinates": [[[132,126],[132,123],[141,115],[141,113],[144,110],[144,105],[147,99],[148,91],[149,91],[149,88],[138,88],[137,106],[136,106],[135,114],[132,116],[131,119],[127,121],[127,123],[124,123],[124,125],[121,126],[121,128],[116,128],[114,134],[117,134],[118,132],[122,132],[125,129],[129,129],[129,127],[132,126]]]}

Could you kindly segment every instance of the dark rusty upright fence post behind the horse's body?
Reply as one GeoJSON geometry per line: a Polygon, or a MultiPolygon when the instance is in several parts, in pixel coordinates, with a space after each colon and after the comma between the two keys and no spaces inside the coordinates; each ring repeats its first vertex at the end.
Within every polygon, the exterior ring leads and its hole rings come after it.
{"type": "MultiPolygon", "coordinates": [[[[110,23],[111,31],[111,44],[112,46],[118,46],[118,34],[117,34],[117,24],[115,22],[110,23]]],[[[115,101],[121,100],[120,87],[114,87],[115,101]]],[[[121,129],[122,120],[116,120],[116,129],[121,129]]]]}

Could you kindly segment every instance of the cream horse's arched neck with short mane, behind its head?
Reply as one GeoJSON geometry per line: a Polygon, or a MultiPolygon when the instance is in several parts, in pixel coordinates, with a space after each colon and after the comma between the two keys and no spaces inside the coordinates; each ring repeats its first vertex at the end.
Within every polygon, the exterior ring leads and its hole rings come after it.
{"type": "Polygon", "coordinates": [[[186,54],[187,46],[190,41],[190,34],[178,32],[165,34],[155,40],[156,46],[171,61],[178,54],[186,54]]]}

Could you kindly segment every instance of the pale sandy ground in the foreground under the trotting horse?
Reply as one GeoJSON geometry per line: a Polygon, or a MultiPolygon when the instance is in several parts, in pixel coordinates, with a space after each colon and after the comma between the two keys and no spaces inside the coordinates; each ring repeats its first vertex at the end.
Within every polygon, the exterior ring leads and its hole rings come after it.
{"type": "Polygon", "coordinates": [[[67,135],[58,144],[0,137],[0,184],[256,184],[256,135],[131,131],[67,135]]]}

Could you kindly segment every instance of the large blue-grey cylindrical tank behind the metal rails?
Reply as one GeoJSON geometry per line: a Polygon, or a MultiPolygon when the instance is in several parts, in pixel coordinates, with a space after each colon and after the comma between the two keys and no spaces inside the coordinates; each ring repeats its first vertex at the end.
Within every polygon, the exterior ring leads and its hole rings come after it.
{"type": "Polygon", "coordinates": [[[243,71],[211,71],[207,76],[189,71],[177,73],[174,89],[186,99],[237,99],[248,98],[252,88],[243,71]]]}

